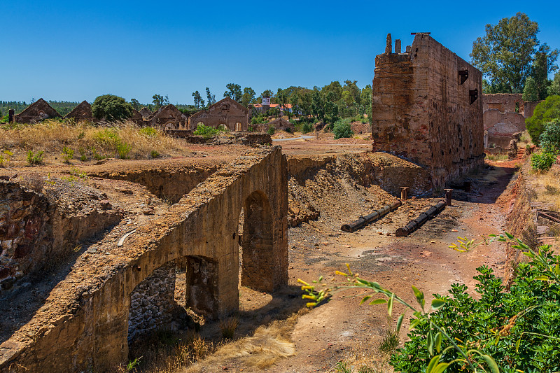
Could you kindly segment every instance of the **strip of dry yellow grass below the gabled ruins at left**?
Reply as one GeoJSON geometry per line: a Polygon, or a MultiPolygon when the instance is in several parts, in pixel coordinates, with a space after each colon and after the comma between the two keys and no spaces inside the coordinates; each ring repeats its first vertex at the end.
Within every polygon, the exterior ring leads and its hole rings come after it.
{"type": "Polygon", "coordinates": [[[141,129],[132,122],[110,127],[97,127],[73,120],[45,120],[36,125],[15,125],[0,129],[0,150],[9,149],[13,160],[32,150],[62,157],[64,146],[74,151],[73,159],[99,160],[103,157],[123,157],[119,150],[130,150],[125,157],[147,159],[153,155],[182,155],[182,143],[155,129],[141,129]]]}

